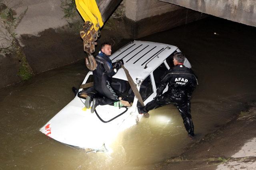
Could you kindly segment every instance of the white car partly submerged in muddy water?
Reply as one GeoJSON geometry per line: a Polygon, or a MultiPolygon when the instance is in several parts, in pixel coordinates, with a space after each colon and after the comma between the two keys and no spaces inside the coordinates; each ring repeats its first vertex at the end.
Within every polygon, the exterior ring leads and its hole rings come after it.
{"type": "MultiPolygon", "coordinates": [[[[146,105],[156,96],[161,76],[172,68],[175,51],[180,52],[178,47],[173,45],[132,41],[112,54],[110,59],[113,62],[123,59],[124,66],[129,71],[146,105]]],[[[90,71],[82,84],[92,84],[92,82],[93,77],[90,71]]],[[[110,150],[110,144],[118,133],[136,125],[142,118],[138,113],[138,99],[134,97],[122,68],[113,76],[112,86],[132,102],[131,107],[104,105],[96,107],[95,112],[91,113],[90,109],[84,106],[85,100],[76,95],[40,131],[68,145],[93,150],[102,149],[105,146],[110,150]]],[[[88,90],[88,88],[80,88],[79,91],[88,90]]]]}

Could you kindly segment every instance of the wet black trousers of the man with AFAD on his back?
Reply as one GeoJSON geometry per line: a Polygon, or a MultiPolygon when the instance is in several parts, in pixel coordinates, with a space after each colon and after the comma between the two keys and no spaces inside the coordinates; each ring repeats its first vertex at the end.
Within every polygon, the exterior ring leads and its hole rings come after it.
{"type": "Polygon", "coordinates": [[[142,110],[148,112],[167,104],[174,104],[174,106],[178,108],[186,131],[188,131],[188,135],[194,135],[194,125],[190,114],[190,100],[188,99],[177,98],[176,96],[172,96],[168,92],[165,92],[161,96],[158,96],[158,98],[155,98],[146,104],[146,106],[142,107],[142,110]]]}

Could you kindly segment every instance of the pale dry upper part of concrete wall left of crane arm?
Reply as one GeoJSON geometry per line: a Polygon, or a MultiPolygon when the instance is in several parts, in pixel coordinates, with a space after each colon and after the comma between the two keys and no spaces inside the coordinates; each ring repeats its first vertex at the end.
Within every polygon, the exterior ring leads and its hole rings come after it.
{"type": "Polygon", "coordinates": [[[38,35],[45,29],[67,25],[60,3],[60,0],[13,0],[10,6],[17,6],[14,9],[18,14],[28,7],[26,16],[16,28],[18,37],[22,34],[38,35]]]}

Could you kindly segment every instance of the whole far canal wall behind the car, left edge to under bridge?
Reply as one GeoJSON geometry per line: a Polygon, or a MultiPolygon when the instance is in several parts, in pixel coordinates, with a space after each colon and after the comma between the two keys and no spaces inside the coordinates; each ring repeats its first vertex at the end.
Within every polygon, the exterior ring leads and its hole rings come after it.
{"type": "MultiPolygon", "coordinates": [[[[6,2],[10,2],[8,6],[13,7],[16,16],[28,8],[15,33],[34,74],[70,64],[86,56],[80,35],[69,29],[72,20],[64,18],[60,0],[6,2]]],[[[106,40],[116,45],[120,39],[144,37],[205,16],[158,0],[124,0],[122,4],[124,16],[115,19],[114,25],[106,24],[116,27],[115,32],[112,28],[104,27],[106,30],[102,30],[98,43],[106,40]]],[[[0,55],[0,88],[22,80],[17,74],[20,65],[21,61],[16,56],[0,55]]]]}

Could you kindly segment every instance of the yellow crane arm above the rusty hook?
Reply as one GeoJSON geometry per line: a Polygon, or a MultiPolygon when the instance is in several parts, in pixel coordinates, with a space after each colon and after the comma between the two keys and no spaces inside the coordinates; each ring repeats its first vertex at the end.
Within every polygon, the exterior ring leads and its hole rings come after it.
{"type": "Polygon", "coordinates": [[[93,23],[96,31],[103,26],[104,23],[95,0],[76,0],[76,9],[85,22],[93,23]]]}

